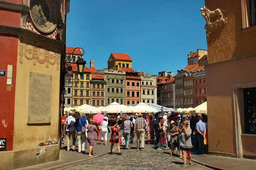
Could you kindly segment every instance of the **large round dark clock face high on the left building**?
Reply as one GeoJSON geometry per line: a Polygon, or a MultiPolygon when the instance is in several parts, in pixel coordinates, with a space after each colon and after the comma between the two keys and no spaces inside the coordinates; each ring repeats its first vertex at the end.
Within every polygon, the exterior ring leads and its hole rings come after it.
{"type": "Polygon", "coordinates": [[[50,33],[58,23],[58,8],[55,0],[30,0],[32,23],[39,31],[50,33]]]}

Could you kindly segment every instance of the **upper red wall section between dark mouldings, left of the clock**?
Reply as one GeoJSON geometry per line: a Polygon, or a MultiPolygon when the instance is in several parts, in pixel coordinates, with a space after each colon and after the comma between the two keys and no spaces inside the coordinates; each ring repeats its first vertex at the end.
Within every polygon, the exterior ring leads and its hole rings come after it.
{"type": "Polygon", "coordinates": [[[0,25],[20,27],[20,11],[0,8],[0,25]]]}

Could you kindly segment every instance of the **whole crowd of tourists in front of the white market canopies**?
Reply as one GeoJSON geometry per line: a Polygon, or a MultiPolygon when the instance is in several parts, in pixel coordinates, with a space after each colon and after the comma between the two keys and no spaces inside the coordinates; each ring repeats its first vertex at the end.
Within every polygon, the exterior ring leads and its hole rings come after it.
{"type": "MultiPolygon", "coordinates": [[[[117,154],[122,155],[120,146],[129,150],[130,144],[137,136],[137,150],[145,150],[145,134],[147,144],[155,144],[156,150],[169,150],[170,155],[177,155],[183,159],[186,166],[186,156],[189,164],[193,165],[191,159],[192,148],[195,154],[204,154],[208,150],[207,145],[207,116],[205,114],[191,115],[179,113],[160,113],[152,115],[136,113],[124,117],[117,116],[116,120],[109,120],[108,115],[102,122],[95,123],[93,119],[86,119],[83,114],[79,119],[73,117],[69,112],[66,119],[67,151],[70,150],[70,136],[73,138],[72,150],[75,150],[76,138],[78,139],[78,152],[85,152],[86,140],[89,143],[89,156],[93,156],[95,134],[100,144],[107,145],[108,134],[111,133],[109,154],[113,153],[114,144],[117,145],[117,154]],[[111,131],[109,129],[111,127],[111,131]],[[122,131],[122,133],[120,132],[122,131]],[[196,142],[192,145],[192,139],[196,142]]],[[[193,142],[194,143],[194,142],[193,142]]]]}

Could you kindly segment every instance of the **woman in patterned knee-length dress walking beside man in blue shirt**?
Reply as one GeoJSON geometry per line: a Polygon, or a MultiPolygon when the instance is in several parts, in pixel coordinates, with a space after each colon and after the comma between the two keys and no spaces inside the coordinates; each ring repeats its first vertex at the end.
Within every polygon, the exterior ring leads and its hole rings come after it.
{"type": "Polygon", "coordinates": [[[90,147],[89,147],[89,156],[93,156],[93,146],[95,145],[95,132],[97,133],[97,135],[99,135],[99,131],[95,125],[95,122],[93,119],[90,119],[90,124],[87,125],[87,140],[90,144],[90,147]]]}

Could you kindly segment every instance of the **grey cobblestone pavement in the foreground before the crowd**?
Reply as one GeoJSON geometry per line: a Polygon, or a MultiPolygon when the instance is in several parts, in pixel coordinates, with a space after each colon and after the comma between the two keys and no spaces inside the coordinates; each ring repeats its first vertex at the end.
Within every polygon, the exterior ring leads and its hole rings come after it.
{"type": "MultiPolygon", "coordinates": [[[[209,168],[196,163],[193,166],[187,164],[186,167],[182,167],[183,160],[176,156],[170,156],[171,150],[156,150],[152,144],[145,144],[145,150],[137,150],[136,146],[137,143],[134,142],[134,144],[131,144],[130,150],[121,149],[122,155],[107,154],[101,158],[74,164],[59,170],[209,170],[209,168]]],[[[116,147],[116,144],[114,147],[116,147]]]]}

